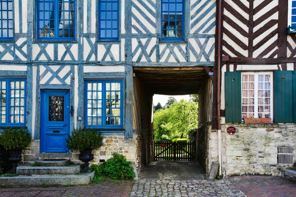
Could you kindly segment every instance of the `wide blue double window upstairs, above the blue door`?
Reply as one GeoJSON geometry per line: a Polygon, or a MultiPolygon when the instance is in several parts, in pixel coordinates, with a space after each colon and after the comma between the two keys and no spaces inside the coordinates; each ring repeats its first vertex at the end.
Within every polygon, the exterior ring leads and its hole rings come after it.
{"type": "Polygon", "coordinates": [[[75,41],[75,0],[36,0],[37,40],[75,41]]]}

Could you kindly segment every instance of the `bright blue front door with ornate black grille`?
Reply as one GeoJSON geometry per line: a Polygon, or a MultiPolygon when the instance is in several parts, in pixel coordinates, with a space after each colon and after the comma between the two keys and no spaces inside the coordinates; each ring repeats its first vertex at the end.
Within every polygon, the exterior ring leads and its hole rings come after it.
{"type": "Polygon", "coordinates": [[[67,133],[70,133],[70,92],[42,90],[40,152],[69,152],[67,133]]]}

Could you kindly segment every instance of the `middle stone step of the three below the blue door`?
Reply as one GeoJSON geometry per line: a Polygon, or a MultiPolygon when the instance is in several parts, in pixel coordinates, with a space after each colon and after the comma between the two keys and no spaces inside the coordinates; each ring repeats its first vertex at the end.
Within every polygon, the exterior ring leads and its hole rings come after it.
{"type": "Polygon", "coordinates": [[[19,166],[17,173],[23,176],[33,175],[75,175],[80,172],[80,165],[69,166],[19,166]]]}

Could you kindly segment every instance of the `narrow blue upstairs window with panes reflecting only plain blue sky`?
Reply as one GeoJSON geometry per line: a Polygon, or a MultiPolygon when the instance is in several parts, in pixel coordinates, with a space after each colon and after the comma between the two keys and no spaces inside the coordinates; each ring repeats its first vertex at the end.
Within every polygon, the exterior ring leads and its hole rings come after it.
{"type": "Polygon", "coordinates": [[[99,2],[99,40],[118,40],[118,0],[99,2]]]}

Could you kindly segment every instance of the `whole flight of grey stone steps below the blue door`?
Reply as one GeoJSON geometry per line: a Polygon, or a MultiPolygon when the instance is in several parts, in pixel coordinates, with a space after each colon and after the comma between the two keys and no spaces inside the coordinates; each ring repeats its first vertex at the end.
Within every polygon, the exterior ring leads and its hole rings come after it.
{"type": "Polygon", "coordinates": [[[85,185],[91,182],[94,172],[80,173],[80,164],[69,159],[40,159],[33,166],[17,167],[18,176],[0,177],[0,187],[47,187],[85,185]]]}

